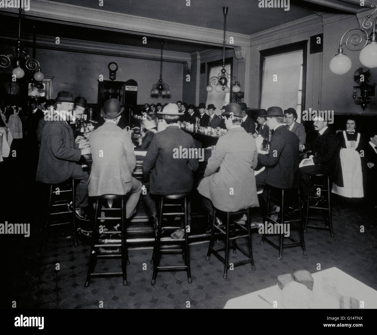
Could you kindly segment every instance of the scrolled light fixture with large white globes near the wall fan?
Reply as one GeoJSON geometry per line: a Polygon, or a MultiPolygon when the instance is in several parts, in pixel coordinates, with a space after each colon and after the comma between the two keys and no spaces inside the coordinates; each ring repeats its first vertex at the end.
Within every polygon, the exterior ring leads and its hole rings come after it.
{"type": "MultiPolygon", "coordinates": [[[[375,5],[371,5],[371,7],[375,7],[375,5]]],[[[348,50],[351,51],[360,51],[359,59],[362,65],[366,66],[367,68],[377,68],[377,17],[374,18],[374,23],[368,21],[368,19],[377,11],[377,8],[372,12],[362,23],[362,28],[353,28],[346,31],[342,38],[340,38],[339,49],[338,53],[335,57],[330,61],[330,70],[335,74],[345,74],[351,69],[352,62],[346,54],[343,54],[343,45],[346,46],[348,50]],[[370,36],[368,36],[368,32],[365,29],[369,29],[373,27],[370,36]],[[349,34],[346,41],[343,42],[343,38],[351,31],[360,30],[365,34],[365,37],[353,32],[349,34]],[[359,48],[362,44],[363,39],[365,38],[364,45],[359,48]],[[368,44],[368,42],[370,42],[368,44]]]]}

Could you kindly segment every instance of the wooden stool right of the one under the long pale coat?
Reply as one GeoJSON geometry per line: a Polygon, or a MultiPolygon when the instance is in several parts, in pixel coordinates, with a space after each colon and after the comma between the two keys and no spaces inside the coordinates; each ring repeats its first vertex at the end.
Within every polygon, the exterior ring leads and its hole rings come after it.
{"type": "MultiPolygon", "coordinates": [[[[279,226],[280,227],[280,233],[282,234],[279,234],[280,235],[280,241],[279,241],[279,245],[277,245],[276,243],[274,243],[273,241],[271,241],[269,238],[266,237],[265,234],[262,234],[262,240],[261,240],[261,244],[264,243],[264,241],[267,241],[268,243],[270,243],[272,246],[274,246],[276,249],[279,250],[279,260],[283,259],[283,249],[284,248],[289,248],[289,247],[296,247],[296,246],[301,246],[302,247],[302,253],[304,256],[307,255],[307,252],[306,252],[306,249],[305,249],[305,241],[304,241],[304,235],[303,235],[303,223],[302,223],[302,213],[301,213],[301,199],[300,199],[300,189],[297,187],[295,188],[292,188],[292,189],[278,189],[281,191],[281,195],[282,195],[282,200],[281,200],[281,207],[280,207],[280,220],[279,218],[277,218],[276,221],[274,221],[272,218],[271,218],[271,215],[273,214],[278,214],[277,212],[268,212],[268,208],[270,208],[270,196],[271,196],[271,187],[268,191],[268,201],[267,201],[267,222],[268,221],[271,221],[271,223],[273,224],[283,224],[282,226],[279,226]],[[288,192],[294,192],[296,191],[297,192],[297,197],[296,197],[296,200],[297,200],[297,206],[298,206],[298,214],[299,214],[299,218],[297,219],[292,219],[292,215],[297,212],[293,212],[291,214],[287,213],[287,206],[285,206],[284,204],[284,195],[286,195],[286,193],[288,192]],[[284,217],[287,217],[288,220],[284,220],[284,217]],[[280,221],[280,223],[278,223],[277,221],[280,221]],[[298,222],[299,223],[299,234],[300,234],[300,241],[297,241],[296,239],[294,239],[293,237],[289,236],[288,238],[292,241],[292,243],[288,243],[288,244],[284,244],[284,240],[286,240],[286,238],[284,238],[284,224],[291,224],[291,223],[296,223],[298,222]],[[283,230],[283,232],[281,231],[283,230]]],[[[290,198],[293,198],[293,197],[290,197],[290,198]]],[[[266,222],[265,222],[266,224],[266,222]]],[[[272,234],[271,234],[272,235],[272,234]]],[[[276,234],[274,234],[276,235],[276,234]]]]}

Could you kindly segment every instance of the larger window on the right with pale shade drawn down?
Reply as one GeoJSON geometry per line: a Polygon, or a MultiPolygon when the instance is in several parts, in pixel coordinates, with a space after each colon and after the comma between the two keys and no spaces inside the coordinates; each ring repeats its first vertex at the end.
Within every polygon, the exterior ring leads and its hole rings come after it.
{"type": "Polygon", "coordinates": [[[303,65],[306,52],[303,49],[272,55],[267,52],[262,57],[260,108],[267,110],[271,106],[279,106],[283,111],[294,108],[300,122],[305,103],[303,65]]]}

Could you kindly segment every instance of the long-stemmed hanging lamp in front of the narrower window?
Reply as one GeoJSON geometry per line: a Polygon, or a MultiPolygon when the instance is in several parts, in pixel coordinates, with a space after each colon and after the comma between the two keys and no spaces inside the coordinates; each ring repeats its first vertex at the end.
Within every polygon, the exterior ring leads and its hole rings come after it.
{"type": "Polygon", "coordinates": [[[240,87],[237,85],[237,79],[232,77],[230,78],[230,74],[228,74],[227,70],[225,70],[225,28],[226,28],[226,18],[228,14],[228,7],[223,7],[222,12],[224,13],[224,40],[222,45],[222,69],[217,77],[211,77],[210,82],[206,88],[207,92],[213,92],[213,86],[215,86],[216,92],[224,91],[225,93],[230,92],[230,88],[228,86],[228,81],[232,84],[233,92],[239,92],[240,87]]]}

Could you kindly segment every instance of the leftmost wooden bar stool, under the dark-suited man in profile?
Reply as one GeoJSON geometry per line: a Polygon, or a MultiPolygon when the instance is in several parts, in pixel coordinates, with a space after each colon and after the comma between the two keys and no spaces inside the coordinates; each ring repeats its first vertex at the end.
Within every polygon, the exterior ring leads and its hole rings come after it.
{"type": "Polygon", "coordinates": [[[61,226],[63,224],[72,224],[72,234],[74,237],[74,245],[77,246],[77,235],[76,235],[76,216],[75,216],[75,180],[70,178],[60,184],[48,184],[49,185],[49,195],[48,195],[48,205],[46,209],[46,222],[42,224],[42,251],[46,248],[47,241],[49,238],[49,228],[53,226],[61,226]],[[69,209],[69,199],[67,200],[67,193],[71,193],[72,199],[72,211],[69,209]],[[63,199],[62,199],[63,198],[63,199]],[[64,214],[72,214],[72,218],[69,221],[63,220],[65,222],[57,221],[59,216],[64,214]],[[55,220],[54,220],[55,218],[55,220]]]}

